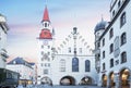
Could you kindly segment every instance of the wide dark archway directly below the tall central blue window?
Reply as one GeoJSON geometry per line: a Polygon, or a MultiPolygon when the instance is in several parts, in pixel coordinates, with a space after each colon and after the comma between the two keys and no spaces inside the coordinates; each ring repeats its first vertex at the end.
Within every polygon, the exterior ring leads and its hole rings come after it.
{"type": "Polygon", "coordinates": [[[72,76],[64,76],[60,79],[60,85],[75,85],[75,79],[72,76]]]}

